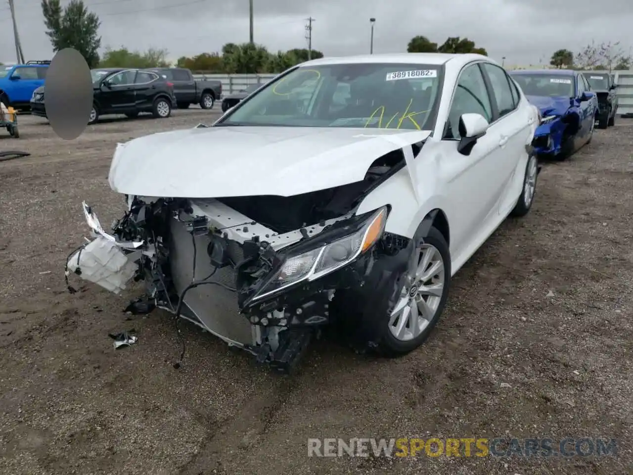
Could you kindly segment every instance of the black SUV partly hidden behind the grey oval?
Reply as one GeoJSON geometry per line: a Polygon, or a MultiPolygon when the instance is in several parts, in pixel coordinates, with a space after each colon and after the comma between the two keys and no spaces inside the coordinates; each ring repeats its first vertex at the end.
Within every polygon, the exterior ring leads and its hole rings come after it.
{"type": "MultiPolygon", "coordinates": [[[[132,118],[149,112],[156,118],[166,118],[176,106],[173,84],[154,72],[101,68],[91,70],[91,75],[93,103],[88,124],[94,124],[99,117],[108,114],[125,114],[132,118]]],[[[44,86],[33,93],[31,113],[46,117],[44,86]]]]}

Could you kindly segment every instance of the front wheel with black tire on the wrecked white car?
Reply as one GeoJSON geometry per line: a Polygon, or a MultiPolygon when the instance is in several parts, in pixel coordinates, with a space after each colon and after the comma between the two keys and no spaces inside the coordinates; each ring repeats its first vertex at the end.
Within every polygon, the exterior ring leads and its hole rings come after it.
{"type": "Polygon", "coordinates": [[[420,240],[417,267],[401,276],[394,304],[379,320],[377,345],[384,357],[410,353],[429,337],[444,311],[451,282],[451,256],[446,239],[435,227],[420,240]]]}

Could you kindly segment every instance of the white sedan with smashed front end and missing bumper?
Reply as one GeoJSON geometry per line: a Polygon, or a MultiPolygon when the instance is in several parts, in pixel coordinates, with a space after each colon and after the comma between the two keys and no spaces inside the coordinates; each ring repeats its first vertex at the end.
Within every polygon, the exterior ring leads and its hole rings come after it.
{"type": "Polygon", "coordinates": [[[532,206],[537,125],[485,56],[308,61],[211,127],[118,144],[128,212],[108,233],[84,203],[93,239],[66,276],[144,281],[128,310],[163,308],[282,371],[329,324],[408,353],[451,276],[532,206]]]}

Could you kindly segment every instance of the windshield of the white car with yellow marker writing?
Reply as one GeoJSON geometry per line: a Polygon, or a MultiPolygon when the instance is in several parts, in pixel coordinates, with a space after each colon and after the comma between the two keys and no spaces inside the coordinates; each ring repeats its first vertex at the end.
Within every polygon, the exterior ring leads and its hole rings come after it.
{"type": "Polygon", "coordinates": [[[430,130],[442,66],[303,66],[260,92],[217,125],[430,130]]]}

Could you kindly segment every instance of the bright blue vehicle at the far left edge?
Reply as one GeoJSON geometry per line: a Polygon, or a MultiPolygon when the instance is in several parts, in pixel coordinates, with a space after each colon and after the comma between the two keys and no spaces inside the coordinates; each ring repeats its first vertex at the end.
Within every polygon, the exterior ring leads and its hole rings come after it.
{"type": "Polygon", "coordinates": [[[51,61],[28,61],[25,65],[0,66],[0,102],[15,109],[30,109],[35,89],[44,85],[51,61]]]}

